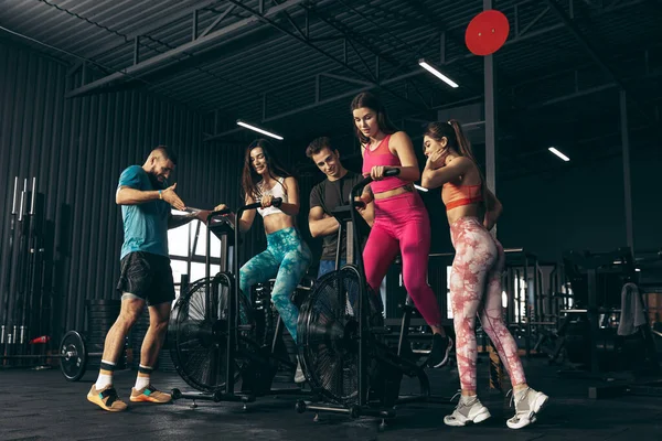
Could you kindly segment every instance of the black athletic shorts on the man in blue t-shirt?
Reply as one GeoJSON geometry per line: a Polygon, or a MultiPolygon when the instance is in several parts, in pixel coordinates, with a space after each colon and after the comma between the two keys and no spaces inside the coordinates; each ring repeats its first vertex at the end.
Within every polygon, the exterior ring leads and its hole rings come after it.
{"type": "Polygon", "coordinates": [[[174,300],[174,281],[170,258],[151,252],[134,251],[121,259],[117,289],[147,300],[148,305],[174,300]]]}

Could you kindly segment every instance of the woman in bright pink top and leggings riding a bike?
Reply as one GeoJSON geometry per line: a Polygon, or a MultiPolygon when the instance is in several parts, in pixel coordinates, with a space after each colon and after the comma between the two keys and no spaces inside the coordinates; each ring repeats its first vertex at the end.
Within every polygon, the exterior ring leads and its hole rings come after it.
{"type": "Polygon", "coordinates": [[[434,333],[428,365],[442,366],[448,362],[452,342],[441,326],[439,304],[426,281],[430,220],[413,185],[420,178],[420,170],[412,140],[395,129],[374,95],[359,94],[351,108],[361,141],[363,174],[374,180],[361,196],[366,204],[375,203],[374,224],[363,249],[367,283],[378,292],[388,267],[401,252],[405,288],[434,333]],[[399,169],[399,174],[385,178],[384,172],[389,169],[399,169]]]}

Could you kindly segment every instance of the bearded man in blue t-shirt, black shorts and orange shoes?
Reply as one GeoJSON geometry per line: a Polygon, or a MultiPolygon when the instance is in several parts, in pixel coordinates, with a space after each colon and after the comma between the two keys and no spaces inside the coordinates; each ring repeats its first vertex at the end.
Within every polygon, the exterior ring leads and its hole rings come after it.
{"type": "Polygon", "coordinates": [[[168,254],[168,229],[194,218],[204,220],[210,212],[174,216],[171,207],[186,208],[177,195],[177,184],[168,179],[174,171],[177,157],[166,146],[153,149],[142,166],[131,165],[122,171],[115,201],[121,205],[125,240],[120,254],[120,276],[117,290],[121,293],[121,311],[108,331],[97,381],[87,399],[104,410],[120,411],[127,405],[113,387],[113,372],[125,337],[145,305],[149,308],[149,329],[140,349],[140,367],[131,401],[168,402],[169,394],[157,390],[150,375],[166,337],[170,309],[174,300],[174,282],[168,254]]]}

